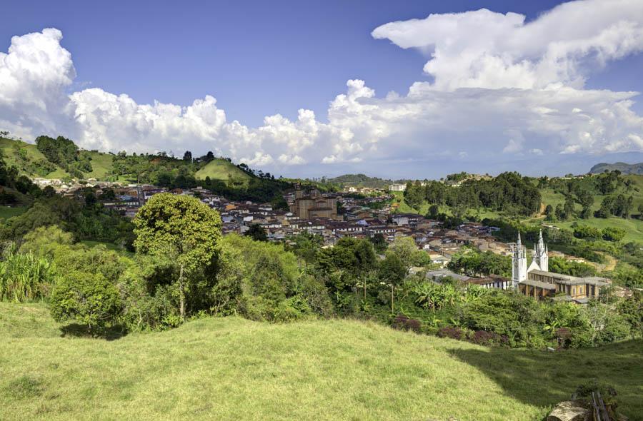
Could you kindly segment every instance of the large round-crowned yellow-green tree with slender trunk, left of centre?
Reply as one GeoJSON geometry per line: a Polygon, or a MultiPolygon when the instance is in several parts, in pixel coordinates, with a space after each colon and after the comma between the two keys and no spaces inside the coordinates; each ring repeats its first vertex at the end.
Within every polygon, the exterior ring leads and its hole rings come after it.
{"type": "Polygon", "coordinates": [[[178,268],[179,314],[186,315],[186,293],[196,288],[197,274],[218,254],[221,218],[198,199],[161,193],[134,218],[134,247],[139,253],[161,255],[178,268]]]}

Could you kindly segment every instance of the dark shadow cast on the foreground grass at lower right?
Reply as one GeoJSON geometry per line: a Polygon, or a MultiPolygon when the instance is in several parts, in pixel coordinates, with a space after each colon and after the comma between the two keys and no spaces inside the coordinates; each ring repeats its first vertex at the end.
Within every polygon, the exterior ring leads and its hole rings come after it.
{"type": "Polygon", "coordinates": [[[449,352],[529,405],[552,407],[569,400],[579,385],[596,379],[614,386],[619,410],[630,421],[643,420],[643,340],[560,352],[506,348],[449,352]]]}

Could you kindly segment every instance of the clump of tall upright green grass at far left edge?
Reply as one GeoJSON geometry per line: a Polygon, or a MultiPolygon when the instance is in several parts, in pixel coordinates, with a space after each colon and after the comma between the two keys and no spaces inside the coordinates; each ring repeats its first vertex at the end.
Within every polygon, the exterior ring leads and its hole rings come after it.
{"type": "Polygon", "coordinates": [[[0,301],[26,302],[44,298],[54,283],[54,267],[48,258],[18,253],[14,244],[0,255],[0,301]]]}

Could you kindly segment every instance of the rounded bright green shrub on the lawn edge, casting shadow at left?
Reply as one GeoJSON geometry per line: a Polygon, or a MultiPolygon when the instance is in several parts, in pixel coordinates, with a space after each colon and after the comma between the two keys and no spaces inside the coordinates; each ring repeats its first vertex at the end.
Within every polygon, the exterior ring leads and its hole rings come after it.
{"type": "Polygon", "coordinates": [[[51,316],[57,322],[74,320],[89,332],[116,324],[122,303],[119,291],[101,273],[71,272],[51,290],[51,316]]]}

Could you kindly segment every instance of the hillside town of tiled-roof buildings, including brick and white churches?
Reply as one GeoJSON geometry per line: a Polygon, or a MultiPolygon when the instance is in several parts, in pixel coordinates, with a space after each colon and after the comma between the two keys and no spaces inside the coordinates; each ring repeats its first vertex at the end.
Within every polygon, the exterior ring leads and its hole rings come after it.
{"type": "MultiPolygon", "coordinates": [[[[488,178],[467,176],[474,179],[488,178]]],[[[447,178],[444,183],[458,187],[464,178],[464,175],[460,178],[447,178]]],[[[134,218],[139,208],[159,193],[194,196],[219,212],[222,233],[244,235],[254,228],[265,233],[266,240],[272,242],[289,243],[291,238],[300,233],[318,235],[324,247],[332,247],[343,237],[370,240],[378,238],[388,244],[393,243],[396,238],[412,238],[418,250],[427,253],[431,262],[428,270],[412,268],[412,273],[422,270],[429,280],[436,283],[448,278],[482,288],[513,288],[538,300],[549,297],[577,304],[587,304],[590,298],[599,296],[602,287],[612,283],[609,278],[549,272],[549,256],[567,257],[576,263],[584,263],[585,260],[548,250],[542,232],[534,245],[532,258],[528,258],[520,235],[517,242],[504,243],[493,235],[499,230],[498,227],[463,221],[447,228],[437,219],[429,219],[416,213],[399,213],[392,203],[392,192],[405,191],[407,185],[401,183],[391,184],[388,188],[347,186],[337,193],[321,193],[316,188],[304,189],[296,185],[284,196],[287,209],[277,209],[271,203],[231,201],[200,186],[169,189],[151,184],[122,184],[91,178],[82,183],[64,183],[59,179],[47,178],[34,178],[33,182],[41,188],[51,186],[56,193],[77,199],[83,198],[84,188],[87,187],[94,188],[96,196],[103,196],[103,193],[109,191],[109,198],[103,205],[119,211],[127,218],[134,218]],[[111,195],[111,192],[114,194],[111,195]],[[356,197],[356,193],[359,196],[356,197]],[[469,276],[449,270],[447,265],[452,256],[461,253],[463,247],[511,257],[512,277],[469,276]]],[[[419,184],[424,186],[422,182],[419,184]]],[[[627,294],[627,290],[617,289],[619,293],[627,294]]]]}

